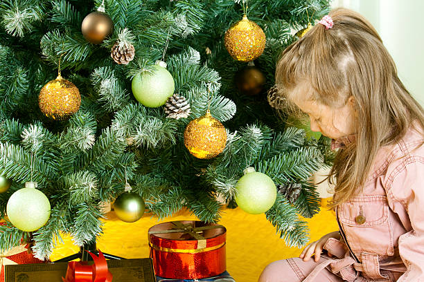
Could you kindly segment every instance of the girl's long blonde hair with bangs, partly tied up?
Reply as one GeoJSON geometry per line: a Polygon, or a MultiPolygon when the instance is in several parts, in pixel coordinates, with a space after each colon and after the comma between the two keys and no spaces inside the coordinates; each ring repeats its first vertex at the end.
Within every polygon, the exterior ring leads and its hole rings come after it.
{"type": "Polygon", "coordinates": [[[398,142],[413,121],[424,128],[424,111],[400,82],[394,61],[371,23],[344,8],[329,15],[333,28],[317,23],[283,51],[276,86],[289,101],[301,88],[303,99],[333,109],[351,95],[355,98],[356,142],[339,150],[328,177],[329,182],[337,179],[335,207],[363,187],[378,149],[398,142]]]}

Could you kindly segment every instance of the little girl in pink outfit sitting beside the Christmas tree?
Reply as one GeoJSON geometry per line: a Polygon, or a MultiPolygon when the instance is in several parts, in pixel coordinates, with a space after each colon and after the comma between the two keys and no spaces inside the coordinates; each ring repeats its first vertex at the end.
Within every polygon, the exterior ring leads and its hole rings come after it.
{"type": "Polygon", "coordinates": [[[276,83],[339,148],[339,232],[271,263],[259,281],[424,281],[424,111],[371,23],[333,10],[284,50],[276,83]]]}

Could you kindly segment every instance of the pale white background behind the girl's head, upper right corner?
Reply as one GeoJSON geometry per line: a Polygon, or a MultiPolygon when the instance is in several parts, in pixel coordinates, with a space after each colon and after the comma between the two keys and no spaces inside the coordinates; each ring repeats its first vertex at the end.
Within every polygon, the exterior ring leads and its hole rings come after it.
{"type": "Polygon", "coordinates": [[[376,28],[408,91],[424,106],[423,0],[333,0],[360,12],[376,28]]]}

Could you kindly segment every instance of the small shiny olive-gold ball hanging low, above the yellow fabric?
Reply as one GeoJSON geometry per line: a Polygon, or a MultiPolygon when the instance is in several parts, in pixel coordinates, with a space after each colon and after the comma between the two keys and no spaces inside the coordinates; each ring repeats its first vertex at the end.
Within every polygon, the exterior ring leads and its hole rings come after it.
{"type": "Polygon", "coordinates": [[[126,223],[134,223],[144,214],[145,203],[139,194],[131,192],[128,183],[125,184],[125,192],[116,198],[114,211],[116,216],[126,223]]]}

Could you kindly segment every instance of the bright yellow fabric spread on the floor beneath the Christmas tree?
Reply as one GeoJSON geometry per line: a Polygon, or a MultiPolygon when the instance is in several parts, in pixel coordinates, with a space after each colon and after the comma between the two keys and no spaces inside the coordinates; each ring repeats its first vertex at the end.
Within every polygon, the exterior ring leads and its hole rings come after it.
{"type": "MultiPolygon", "coordinates": [[[[182,211],[166,220],[145,214],[136,223],[124,223],[114,212],[103,220],[104,234],[98,238],[98,249],[102,252],[122,256],[125,259],[149,256],[148,229],[157,223],[173,220],[197,220],[190,212],[182,211]]],[[[308,221],[311,240],[338,229],[335,215],[325,207],[308,221]]],[[[246,214],[241,209],[226,209],[221,225],[227,228],[227,270],[238,282],[256,282],[263,268],[280,259],[299,256],[301,249],[289,248],[276,235],[276,229],[265,218],[265,214],[246,214]]],[[[64,244],[55,247],[51,261],[62,259],[78,252],[70,236],[63,236],[64,244]]]]}

